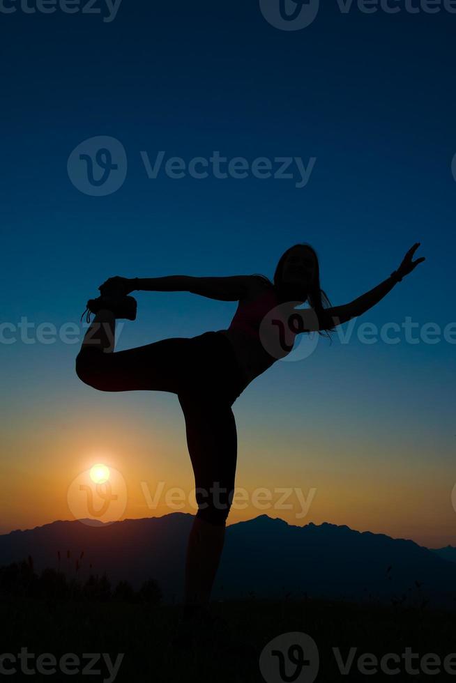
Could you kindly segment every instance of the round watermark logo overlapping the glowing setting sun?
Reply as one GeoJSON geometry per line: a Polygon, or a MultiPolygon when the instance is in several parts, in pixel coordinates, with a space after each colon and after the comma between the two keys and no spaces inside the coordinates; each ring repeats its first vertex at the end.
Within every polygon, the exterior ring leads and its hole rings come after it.
{"type": "Polygon", "coordinates": [[[89,526],[119,521],[127,506],[125,479],[114,467],[96,463],[68,486],[67,502],[75,519],[89,526]]]}

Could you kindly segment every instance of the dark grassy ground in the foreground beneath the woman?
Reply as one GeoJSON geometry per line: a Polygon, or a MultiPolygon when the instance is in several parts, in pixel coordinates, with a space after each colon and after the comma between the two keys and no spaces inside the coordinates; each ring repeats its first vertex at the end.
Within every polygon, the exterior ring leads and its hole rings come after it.
{"type": "MultiPolygon", "coordinates": [[[[264,682],[258,658],[269,640],[279,634],[302,631],[312,636],[319,648],[320,670],[317,683],[358,680],[430,680],[421,673],[402,675],[361,675],[356,663],[350,675],[342,676],[332,651],[339,647],[347,659],[351,647],[357,654],[373,653],[382,657],[388,652],[401,655],[406,647],[420,657],[439,654],[442,660],[456,651],[454,613],[401,605],[380,606],[342,601],[249,599],[212,605],[213,613],[223,617],[236,637],[251,643],[254,656],[236,652],[205,651],[190,654],[171,652],[169,640],[180,608],[128,602],[123,599],[73,599],[3,595],[1,600],[1,652],[20,652],[27,647],[38,654],[50,652],[59,659],[73,652],[82,657],[89,652],[106,652],[112,659],[125,653],[116,681],[128,683],[250,683],[264,682]]],[[[1,654],[1,653],[0,653],[1,654]]],[[[32,665],[30,665],[32,666],[32,665]]],[[[100,666],[98,665],[98,668],[100,666]]],[[[10,676],[18,680],[20,676],[10,676]]],[[[107,669],[98,675],[30,675],[24,680],[107,681],[107,669]]],[[[276,679],[280,680],[280,679],[276,679]]],[[[441,673],[434,680],[456,680],[441,673]]],[[[298,678],[298,683],[310,683],[298,678]]]]}

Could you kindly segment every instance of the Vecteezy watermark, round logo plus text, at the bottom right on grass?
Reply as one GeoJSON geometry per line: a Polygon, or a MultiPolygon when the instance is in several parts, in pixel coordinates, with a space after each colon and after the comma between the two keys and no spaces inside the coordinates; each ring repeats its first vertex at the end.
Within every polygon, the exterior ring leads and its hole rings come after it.
{"type": "MultiPolygon", "coordinates": [[[[446,673],[456,676],[456,653],[442,658],[434,652],[420,655],[413,652],[412,647],[405,647],[400,654],[387,652],[381,656],[371,652],[360,653],[358,647],[350,647],[348,652],[333,647],[332,652],[342,676],[354,675],[356,672],[367,677],[378,673],[389,676],[436,676],[446,673]]],[[[259,669],[266,683],[313,683],[319,673],[317,643],[307,634],[299,632],[277,636],[261,652],[259,669]]]]}

